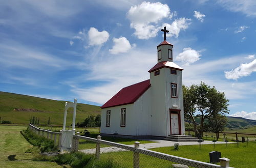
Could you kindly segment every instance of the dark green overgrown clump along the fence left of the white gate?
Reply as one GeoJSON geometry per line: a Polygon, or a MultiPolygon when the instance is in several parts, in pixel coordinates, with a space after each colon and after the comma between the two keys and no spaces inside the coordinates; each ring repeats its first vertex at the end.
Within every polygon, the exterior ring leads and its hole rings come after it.
{"type": "Polygon", "coordinates": [[[27,139],[27,141],[33,146],[38,147],[41,152],[50,152],[58,150],[58,148],[54,146],[54,141],[52,141],[51,139],[38,136],[29,129],[21,132],[23,136],[27,139]]]}

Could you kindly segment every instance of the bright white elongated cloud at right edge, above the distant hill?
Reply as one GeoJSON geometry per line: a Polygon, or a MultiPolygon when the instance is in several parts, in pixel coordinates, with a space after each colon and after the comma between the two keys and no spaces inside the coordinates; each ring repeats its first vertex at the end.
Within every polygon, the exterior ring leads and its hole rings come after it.
{"type": "Polygon", "coordinates": [[[238,79],[244,76],[250,75],[252,72],[256,72],[256,59],[250,63],[240,64],[236,69],[231,71],[225,71],[225,77],[227,79],[238,79]]]}

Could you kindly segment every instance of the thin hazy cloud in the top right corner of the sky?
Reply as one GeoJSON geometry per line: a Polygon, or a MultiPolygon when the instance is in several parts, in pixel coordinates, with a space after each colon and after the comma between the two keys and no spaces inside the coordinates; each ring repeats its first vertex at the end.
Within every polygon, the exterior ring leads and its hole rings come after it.
{"type": "Polygon", "coordinates": [[[232,12],[242,12],[247,16],[256,16],[255,0],[218,0],[217,3],[232,12]]]}

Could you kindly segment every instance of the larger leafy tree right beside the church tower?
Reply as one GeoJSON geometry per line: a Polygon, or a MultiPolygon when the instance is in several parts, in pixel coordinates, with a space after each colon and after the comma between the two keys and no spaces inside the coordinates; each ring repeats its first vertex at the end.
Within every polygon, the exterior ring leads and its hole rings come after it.
{"type": "MultiPolygon", "coordinates": [[[[204,82],[201,82],[200,85],[192,85],[189,88],[183,87],[183,94],[185,117],[189,117],[193,122],[194,115],[198,113],[196,117],[200,118],[199,138],[203,136],[205,119],[228,113],[229,100],[226,99],[225,93],[218,92],[215,87],[210,88],[204,82]]],[[[196,123],[193,122],[193,124],[195,129],[196,123]]]]}

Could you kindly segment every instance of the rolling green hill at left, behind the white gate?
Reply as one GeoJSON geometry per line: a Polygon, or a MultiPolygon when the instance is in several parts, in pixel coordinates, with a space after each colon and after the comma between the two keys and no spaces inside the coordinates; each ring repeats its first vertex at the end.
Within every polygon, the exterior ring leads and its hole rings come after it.
{"type": "MultiPolygon", "coordinates": [[[[79,100],[78,100],[79,101],[79,100]]],[[[0,92],[0,117],[12,123],[29,123],[35,116],[39,124],[62,124],[66,101],[50,100],[45,98],[0,92]]],[[[77,103],[76,123],[82,122],[89,115],[100,114],[101,108],[95,105],[77,103]]],[[[67,126],[72,123],[73,108],[69,108],[67,126]]]]}

